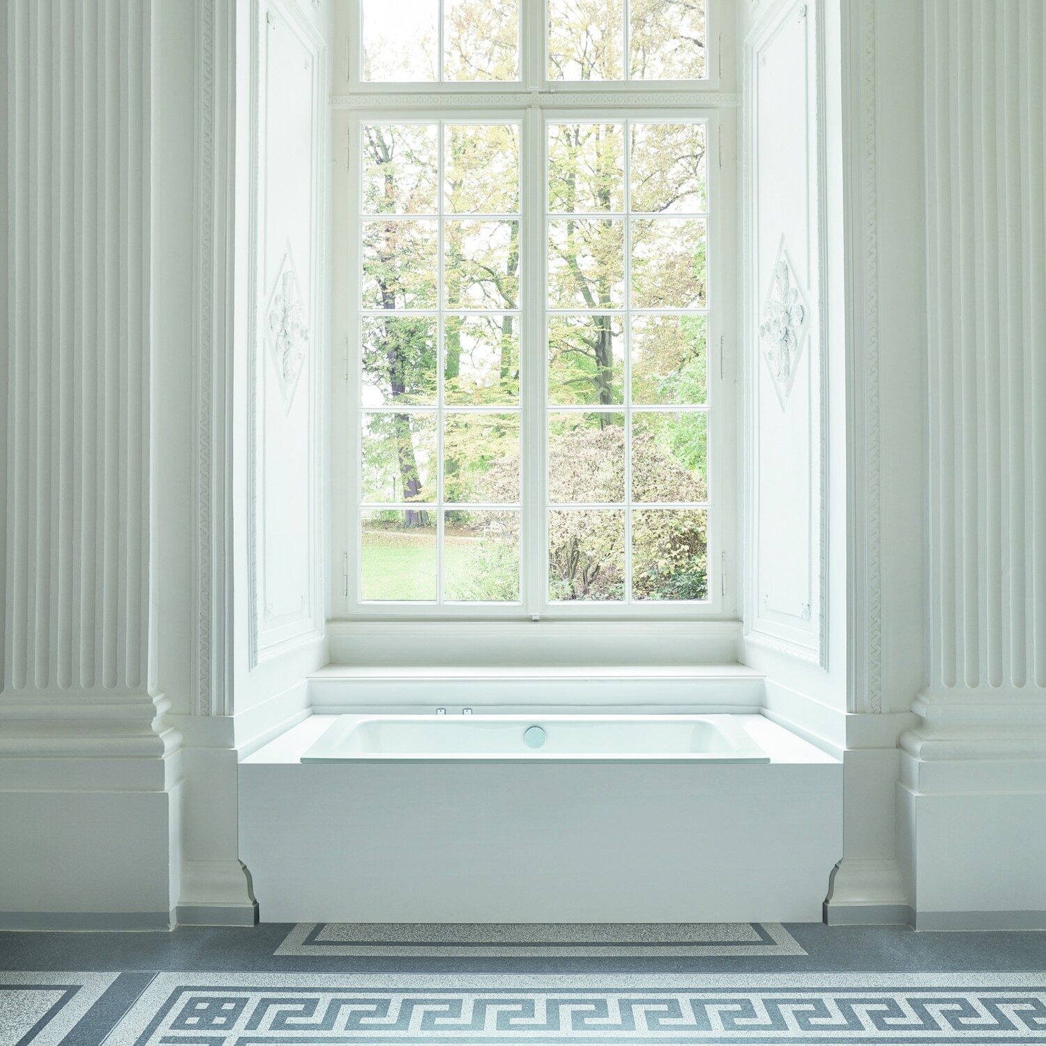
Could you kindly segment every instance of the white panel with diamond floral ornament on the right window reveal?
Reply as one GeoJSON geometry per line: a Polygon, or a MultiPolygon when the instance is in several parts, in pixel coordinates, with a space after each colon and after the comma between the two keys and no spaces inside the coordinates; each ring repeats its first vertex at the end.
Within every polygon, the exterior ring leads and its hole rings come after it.
{"type": "Polygon", "coordinates": [[[823,666],[827,477],[817,10],[803,0],[771,5],[746,47],[746,640],[823,666]]]}

